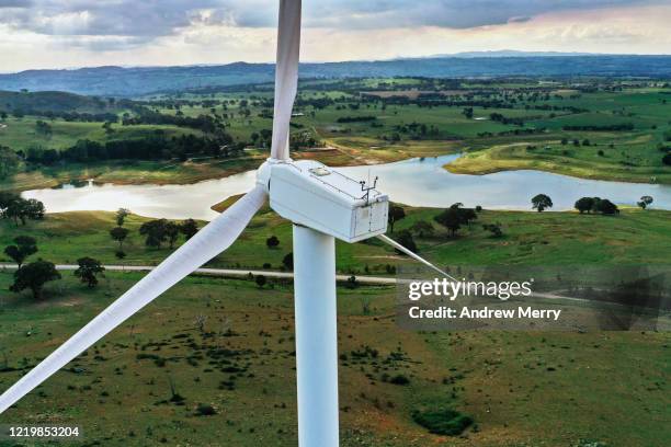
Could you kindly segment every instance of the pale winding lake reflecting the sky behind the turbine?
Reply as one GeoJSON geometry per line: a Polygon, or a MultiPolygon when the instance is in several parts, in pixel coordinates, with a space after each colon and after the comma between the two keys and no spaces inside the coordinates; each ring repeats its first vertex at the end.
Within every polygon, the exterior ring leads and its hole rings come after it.
{"type": "MultiPolygon", "coordinates": [[[[539,193],[551,197],[553,210],[571,209],[583,196],[609,198],[618,205],[636,205],[642,195],[655,198],[653,208],[671,209],[671,185],[583,180],[542,171],[522,170],[487,175],[453,174],[443,169],[458,154],[410,159],[395,163],[338,168],[356,180],[378,176],[377,186],[394,202],[412,206],[448,207],[462,202],[467,207],[531,209],[539,193]]],[[[168,219],[205,219],[217,214],[209,207],[253,187],[255,171],[190,185],[65,185],[32,190],[25,198],[42,200],[48,213],[128,208],[141,216],[168,219]]]]}

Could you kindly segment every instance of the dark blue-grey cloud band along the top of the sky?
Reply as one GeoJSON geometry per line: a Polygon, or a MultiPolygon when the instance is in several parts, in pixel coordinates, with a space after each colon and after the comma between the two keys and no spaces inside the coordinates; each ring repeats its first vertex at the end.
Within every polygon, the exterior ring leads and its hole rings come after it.
{"type": "MultiPolygon", "coordinates": [[[[0,0],[0,24],[57,36],[115,36],[90,39],[99,45],[104,41],[123,46],[124,38],[128,45],[137,45],[195,23],[274,26],[277,1],[0,0]]],[[[667,0],[304,0],[304,24],[343,30],[425,25],[468,28],[523,22],[569,9],[646,3],[662,4],[667,0]]]]}

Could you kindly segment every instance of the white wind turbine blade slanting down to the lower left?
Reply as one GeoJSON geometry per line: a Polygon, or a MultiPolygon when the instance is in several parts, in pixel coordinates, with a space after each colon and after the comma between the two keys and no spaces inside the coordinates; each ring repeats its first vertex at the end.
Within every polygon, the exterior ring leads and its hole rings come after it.
{"type": "Polygon", "coordinates": [[[0,396],[0,413],[180,279],[230,247],[261,208],[265,197],[264,188],[257,186],[205,226],[139,283],[0,396]]]}

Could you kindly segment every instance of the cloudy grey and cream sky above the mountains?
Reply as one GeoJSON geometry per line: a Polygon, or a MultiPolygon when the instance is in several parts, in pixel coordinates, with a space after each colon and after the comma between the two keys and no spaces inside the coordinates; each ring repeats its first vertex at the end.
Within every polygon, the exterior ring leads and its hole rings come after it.
{"type": "MultiPolygon", "coordinates": [[[[277,0],[0,0],[0,71],[271,61],[277,0]]],[[[304,0],[302,60],[671,53],[671,0],[304,0]]]]}

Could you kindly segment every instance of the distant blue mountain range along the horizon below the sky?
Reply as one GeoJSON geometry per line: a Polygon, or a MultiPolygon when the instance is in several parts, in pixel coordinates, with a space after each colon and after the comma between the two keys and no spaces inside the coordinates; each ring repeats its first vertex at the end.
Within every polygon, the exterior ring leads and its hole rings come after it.
{"type": "MultiPolygon", "coordinates": [[[[161,91],[271,82],[273,64],[189,67],[96,67],[0,74],[0,90],[136,96],[161,91]]],[[[416,59],[302,64],[302,78],[349,77],[671,77],[671,56],[520,51],[463,53],[416,59]],[[565,56],[565,57],[558,57],[565,56]]]]}

